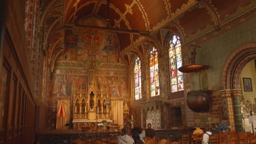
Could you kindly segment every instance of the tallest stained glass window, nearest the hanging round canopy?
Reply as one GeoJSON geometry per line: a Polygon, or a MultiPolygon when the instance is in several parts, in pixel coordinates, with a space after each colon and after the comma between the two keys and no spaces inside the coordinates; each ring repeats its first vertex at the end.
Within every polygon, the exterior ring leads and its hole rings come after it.
{"type": "Polygon", "coordinates": [[[178,70],[182,67],[181,41],[173,35],[169,47],[169,67],[171,77],[171,92],[183,91],[183,73],[178,70]]]}

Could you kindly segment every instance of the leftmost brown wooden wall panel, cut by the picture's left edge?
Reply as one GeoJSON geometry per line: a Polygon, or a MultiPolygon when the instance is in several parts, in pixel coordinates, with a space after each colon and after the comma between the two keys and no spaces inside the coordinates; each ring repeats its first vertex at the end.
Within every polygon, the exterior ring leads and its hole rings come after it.
{"type": "Polygon", "coordinates": [[[8,84],[9,84],[9,70],[5,67],[2,69],[1,79],[0,79],[0,130],[5,127],[4,124],[4,113],[5,113],[5,101],[8,95],[8,84]]]}

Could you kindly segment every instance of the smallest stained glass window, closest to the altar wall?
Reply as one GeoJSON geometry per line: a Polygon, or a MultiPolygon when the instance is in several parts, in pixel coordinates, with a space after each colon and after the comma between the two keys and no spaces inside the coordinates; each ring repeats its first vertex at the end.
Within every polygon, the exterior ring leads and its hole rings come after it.
{"type": "Polygon", "coordinates": [[[135,100],[141,99],[141,61],[137,57],[134,64],[135,100]]]}

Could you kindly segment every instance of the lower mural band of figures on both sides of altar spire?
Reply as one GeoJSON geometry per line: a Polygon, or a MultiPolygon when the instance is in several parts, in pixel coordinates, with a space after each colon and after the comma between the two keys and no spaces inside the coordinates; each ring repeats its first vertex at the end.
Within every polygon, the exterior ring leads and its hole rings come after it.
{"type": "MultiPolygon", "coordinates": [[[[87,76],[53,75],[51,80],[51,95],[72,96],[75,89],[87,89],[87,76]]],[[[109,97],[127,97],[128,79],[125,76],[97,76],[97,89],[106,89],[109,97]]]]}

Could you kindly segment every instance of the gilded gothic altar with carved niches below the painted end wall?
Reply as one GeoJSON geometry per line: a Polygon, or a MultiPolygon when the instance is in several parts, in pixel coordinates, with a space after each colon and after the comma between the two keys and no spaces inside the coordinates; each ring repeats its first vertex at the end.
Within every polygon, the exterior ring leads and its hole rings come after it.
{"type": "Polygon", "coordinates": [[[76,89],[73,95],[73,129],[82,131],[103,131],[102,121],[112,124],[110,120],[110,100],[106,89],[95,89],[90,85],[86,89],[76,89]],[[88,91],[86,90],[88,89],[88,91]],[[98,125],[98,126],[97,126],[98,125]]]}

